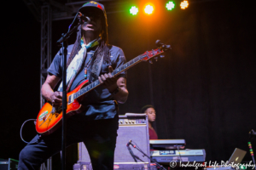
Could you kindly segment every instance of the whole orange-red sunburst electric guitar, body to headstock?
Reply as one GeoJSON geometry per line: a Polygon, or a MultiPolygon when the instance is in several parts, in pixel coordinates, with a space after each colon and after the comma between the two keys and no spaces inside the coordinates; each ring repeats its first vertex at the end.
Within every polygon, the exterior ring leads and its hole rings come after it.
{"type": "MultiPolygon", "coordinates": [[[[147,51],[144,54],[137,56],[134,59],[131,59],[129,62],[124,65],[119,66],[119,68],[115,69],[112,72],[113,77],[116,77],[121,72],[128,70],[133,65],[137,65],[141,61],[151,61],[151,59],[157,59],[159,55],[163,56],[163,53],[170,49],[170,45],[165,45],[160,42],[160,40],[156,41],[157,47],[156,49],[152,49],[151,51],[147,51]]],[[[161,56],[160,56],[161,57],[161,56]]],[[[152,62],[152,61],[151,61],[152,62]]],[[[79,104],[79,99],[87,93],[90,93],[91,90],[100,86],[101,83],[96,80],[95,82],[91,82],[88,84],[88,80],[82,82],[79,87],[75,88],[73,91],[67,93],[67,118],[69,116],[73,116],[83,111],[82,105],[79,104]]],[[[46,103],[38,113],[36,130],[41,134],[49,134],[53,133],[58,127],[62,124],[62,107],[53,107],[51,104],[46,103]]]]}

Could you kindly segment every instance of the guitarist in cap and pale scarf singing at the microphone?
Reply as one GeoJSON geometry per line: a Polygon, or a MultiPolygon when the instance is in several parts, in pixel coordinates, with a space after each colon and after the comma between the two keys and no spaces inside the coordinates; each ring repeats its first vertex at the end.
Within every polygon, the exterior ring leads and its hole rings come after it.
{"type": "MultiPolygon", "coordinates": [[[[121,48],[108,44],[107,14],[101,3],[85,3],[79,12],[90,18],[79,26],[76,42],[67,48],[67,91],[89,80],[102,86],[85,94],[79,102],[84,110],[67,119],[67,146],[84,142],[94,170],[113,169],[113,154],[118,125],[118,105],[128,97],[126,72],[113,77],[110,72],[125,63],[121,48]]],[[[61,106],[61,54],[48,69],[42,94],[54,107],[61,106]]],[[[18,169],[38,169],[50,156],[61,150],[61,128],[49,135],[37,135],[20,151],[18,169]]]]}

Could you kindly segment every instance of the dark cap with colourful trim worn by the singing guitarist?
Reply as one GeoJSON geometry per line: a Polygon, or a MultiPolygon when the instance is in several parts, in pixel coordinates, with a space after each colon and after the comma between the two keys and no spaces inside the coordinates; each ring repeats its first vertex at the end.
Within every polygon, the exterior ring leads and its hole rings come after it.
{"type": "Polygon", "coordinates": [[[90,1],[90,3],[84,3],[84,5],[79,8],[79,12],[84,14],[88,9],[96,9],[99,13],[104,15],[105,20],[107,21],[107,14],[104,5],[102,3],[96,3],[94,1],[90,1]]]}

